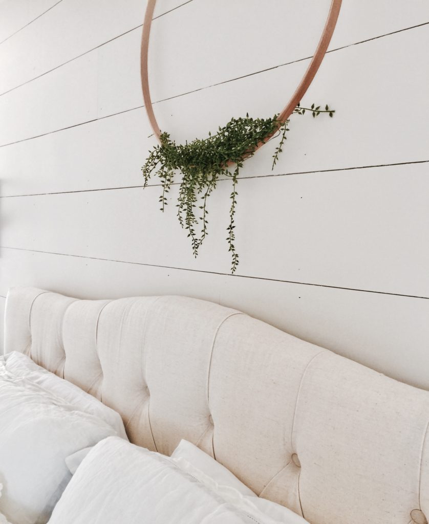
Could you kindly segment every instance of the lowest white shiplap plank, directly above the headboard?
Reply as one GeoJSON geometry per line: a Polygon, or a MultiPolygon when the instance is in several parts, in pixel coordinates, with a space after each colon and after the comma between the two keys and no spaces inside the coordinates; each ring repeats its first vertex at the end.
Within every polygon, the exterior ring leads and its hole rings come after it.
{"type": "Polygon", "coordinates": [[[429,389],[429,300],[4,248],[2,266],[2,294],[7,286],[37,286],[86,299],[183,294],[211,300],[429,389]]]}

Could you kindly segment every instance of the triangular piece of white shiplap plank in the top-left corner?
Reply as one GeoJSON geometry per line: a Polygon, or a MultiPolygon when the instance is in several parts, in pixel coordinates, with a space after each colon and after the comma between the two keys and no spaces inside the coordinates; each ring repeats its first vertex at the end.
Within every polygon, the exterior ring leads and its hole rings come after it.
{"type": "MultiPolygon", "coordinates": [[[[4,0],[0,2],[0,43],[39,16],[43,16],[47,9],[57,3],[58,0],[4,0]]],[[[2,70],[2,74],[5,73],[6,71],[2,70]]]]}

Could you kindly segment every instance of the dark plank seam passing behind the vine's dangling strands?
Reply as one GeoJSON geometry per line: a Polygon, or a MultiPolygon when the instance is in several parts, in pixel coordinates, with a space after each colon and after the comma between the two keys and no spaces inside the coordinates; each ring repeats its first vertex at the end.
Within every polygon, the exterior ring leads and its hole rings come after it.
{"type": "MultiPolygon", "coordinates": [[[[372,169],[377,167],[393,167],[393,166],[407,166],[407,165],[413,165],[413,164],[419,164],[419,163],[427,163],[429,160],[414,160],[409,162],[395,162],[395,163],[389,163],[389,164],[376,164],[372,166],[356,166],[356,167],[343,167],[343,168],[332,168],[332,169],[316,169],[314,171],[294,171],[290,173],[269,173],[269,174],[255,174],[251,176],[243,176],[240,177],[239,180],[251,180],[254,178],[275,178],[275,177],[290,177],[297,174],[316,174],[316,173],[329,173],[334,171],[352,171],[356,169],[372,169]]],[[[221,178],[218,181],[219,182],[226,182],[230,180],[229,178],[221,178]]],[[[173,182],[171,185],[179,185],[181,182],[173,182]]],[[[72,193],[93,193],[96,191],[117,191],[121,189],[141,189],[144,185],[121,185],[113,188],[95,188],[95,189],[76,189],[71,191],[52,191],[52,192],[46,192],[46,193],[28,193],[28,194],[20,194],[20,195],[0,195],[0,199],[2,198],[25,198],[26,196],[48,196],[48,195],[62,195],[62,194],[72,194],[72,193]]],[[[162,187],[162,183],[159,184],[148,184],[148,188],[158,188],[162,187]]]]}

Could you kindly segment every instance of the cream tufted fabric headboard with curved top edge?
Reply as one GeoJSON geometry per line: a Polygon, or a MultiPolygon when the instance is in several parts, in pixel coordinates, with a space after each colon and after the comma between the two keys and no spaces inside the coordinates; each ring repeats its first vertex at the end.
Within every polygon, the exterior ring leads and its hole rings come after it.
{"type": "Polygon", "coordinates": [[[119,411],[136,444],[194,442],[314,524],[427,523],[427,391],[186,297],[14,288],[5,324],[6,352],[119,411]]]}

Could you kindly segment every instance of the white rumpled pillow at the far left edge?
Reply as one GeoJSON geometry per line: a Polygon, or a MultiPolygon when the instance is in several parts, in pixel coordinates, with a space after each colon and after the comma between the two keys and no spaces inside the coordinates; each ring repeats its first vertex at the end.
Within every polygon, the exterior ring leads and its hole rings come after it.
{"type": "Polygon", "coordinates": [[[67,456],[125,436],[119,413],[20,353],[0,357],[0,420],[0,512],[15,524],[49,520],[67,456]]]}

